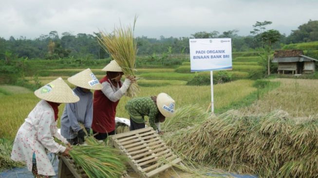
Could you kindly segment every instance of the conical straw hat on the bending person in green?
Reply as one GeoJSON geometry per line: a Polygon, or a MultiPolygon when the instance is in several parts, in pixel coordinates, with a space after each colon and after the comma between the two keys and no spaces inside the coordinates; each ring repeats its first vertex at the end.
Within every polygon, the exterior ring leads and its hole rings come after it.
{"type": "Polygon", "coordinates": [[[175,112],[175,101],[167,93],[159,93],[157,107],[165,117],[172,117],[175,112]]]}

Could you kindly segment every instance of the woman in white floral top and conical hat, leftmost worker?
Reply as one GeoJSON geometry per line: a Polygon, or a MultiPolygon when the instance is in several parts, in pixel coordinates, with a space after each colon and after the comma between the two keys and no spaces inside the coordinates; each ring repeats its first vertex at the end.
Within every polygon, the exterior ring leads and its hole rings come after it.
{"type": "Polygon", "coordinates": [[[52,153],[69,156],[70,143],[57,132],[56,120],[61,103],[79,100],[72,89],[61,78],[37,89],[34,94],[42,99],[20,126],[14,141],[11,159],[25,161],[36,178],[54,176],[55,172],[45,149],[52,153]],[[69,147],[54,141],[56,137],[69,147]]]}

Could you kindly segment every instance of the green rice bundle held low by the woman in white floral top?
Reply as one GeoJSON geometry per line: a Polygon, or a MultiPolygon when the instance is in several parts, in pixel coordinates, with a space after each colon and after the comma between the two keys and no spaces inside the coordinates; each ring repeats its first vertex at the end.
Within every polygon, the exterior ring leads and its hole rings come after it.
{"type": "MultiPolygon", "coordinates": [[[[120,178],[125,172],[126,157],[117,149],[106,146],[92,137],[88,145],[73,145],[70,156],[89,178],[120,178]]],[[[57,141],[61,143],[60,141],[57,141]]]]}

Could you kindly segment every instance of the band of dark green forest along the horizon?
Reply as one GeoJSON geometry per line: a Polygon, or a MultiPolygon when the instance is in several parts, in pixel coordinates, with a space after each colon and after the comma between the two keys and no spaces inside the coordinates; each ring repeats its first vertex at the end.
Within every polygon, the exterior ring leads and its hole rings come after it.
{"type": "MultiPolygon", "coordinates": [[[[278,35],[276,42],[272,44],[272,49],[280,49],[285,44],[300,42],[318,41],[318,20],[309,20],[307,23],[299,25],[298,29],[292,30],[286,36],[277,30],[267,30],[266,26],[270,21],[257,21],[251,26],[253,29],[249,36],[238,36],[238,30],[225,32],[196,32],[185,37],[165,37],[149,38],[147,36],[137,36],[138,55],[156,56],[168,54],[189,53],[189,38],[232,38],[233,52],[253,52],[262,51],[266,43],[266,33],[276,32],[278,35]]],[[[109,55],[98,44],[96,37],[99,33],[93,34],[72,34],[51,31],[49,34],[40,35],[35,39],[28,39],[25,36],[9,39],[0,37],[0,60],[28,58],[28,59],[104,59],[109,55]]],[[[269,34],[270,36],[272,34],[269,34]]]]}

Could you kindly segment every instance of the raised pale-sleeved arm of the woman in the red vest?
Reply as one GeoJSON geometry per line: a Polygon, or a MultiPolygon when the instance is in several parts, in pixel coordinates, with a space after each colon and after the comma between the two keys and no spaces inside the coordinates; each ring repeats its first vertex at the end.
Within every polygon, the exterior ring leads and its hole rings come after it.
{"type": "Polygon", "coordinates": [[[121,97],[124,96],[125,92],[127,91],[127,89],[129,88],[129,86],[131,85],[131,81],[130,79],[126,78],[125,82],[123,83],[123,85],[121,86],[120,89],[118,89],[116,92],[114,92],[112,90],[112,86],[110,83],[108,82],[103,82],[103,89],[102,92],[105,94],[105,96],[110,99],[112,102],[116,102],[118,101],[121,97]]]}

